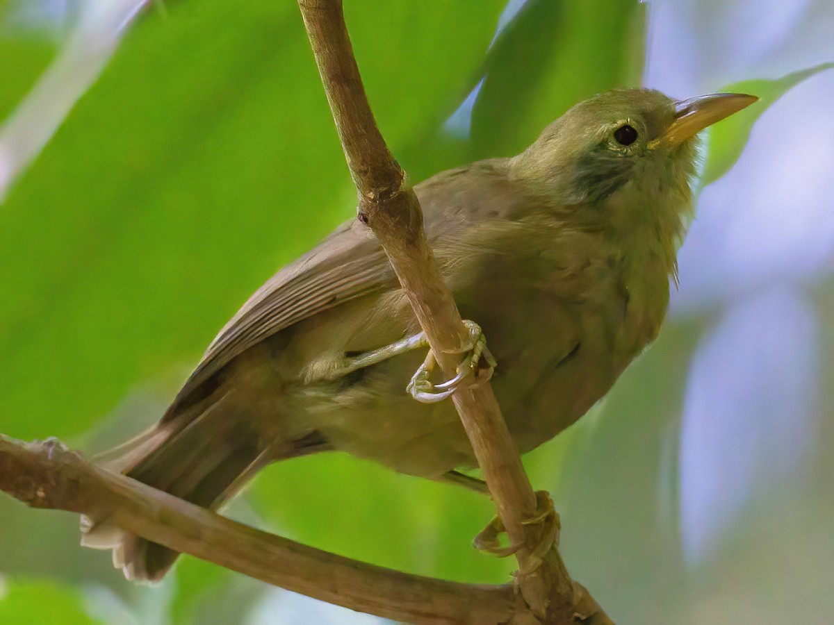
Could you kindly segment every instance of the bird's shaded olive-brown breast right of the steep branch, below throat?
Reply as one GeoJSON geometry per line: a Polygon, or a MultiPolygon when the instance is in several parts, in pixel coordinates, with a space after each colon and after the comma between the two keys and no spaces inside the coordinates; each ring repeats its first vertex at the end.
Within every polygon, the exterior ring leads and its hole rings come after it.
{"type": "Polygon", "coordinates": [[[595,233],[562,233],[535,258],[524,250],[515,271],[508,257],[482,259],[484,288],[459,299],[485,329],[495,393],[527,451],[584,415],[656,338],[668,278],[660,264],[625,263],[595,233]]]}

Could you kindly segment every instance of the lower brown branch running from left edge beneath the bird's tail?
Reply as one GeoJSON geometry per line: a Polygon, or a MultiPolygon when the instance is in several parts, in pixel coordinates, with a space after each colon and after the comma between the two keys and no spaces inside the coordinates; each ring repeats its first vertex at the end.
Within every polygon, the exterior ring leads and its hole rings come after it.
{"type": "Polygon", "coordinates": [[[110,473],[55,439],[23,443],[0,435],[0,490],[32,507],[107,519],[262,582],[379,617],[499,623],[524,613],[509,584],[446,582],[307,547],[110,473]]]}

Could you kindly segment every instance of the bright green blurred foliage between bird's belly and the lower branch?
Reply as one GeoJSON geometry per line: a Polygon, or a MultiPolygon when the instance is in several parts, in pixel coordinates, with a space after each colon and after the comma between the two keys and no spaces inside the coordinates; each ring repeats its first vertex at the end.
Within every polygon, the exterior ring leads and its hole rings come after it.
{"type": "Polygon", "coordinates": [[[507,582],[513,570],[471,546],[495,514],[489,498],[346,454],[267,468],[250,498],[279,533],[347,557],[468,582],[507,582]]]}

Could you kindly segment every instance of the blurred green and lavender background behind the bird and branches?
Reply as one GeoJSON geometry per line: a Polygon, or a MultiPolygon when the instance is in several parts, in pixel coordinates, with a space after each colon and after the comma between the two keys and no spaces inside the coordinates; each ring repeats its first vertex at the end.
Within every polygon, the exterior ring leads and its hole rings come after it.
{"type": "MultiPolygon", "coordinates": [[[[654,347],[525,458],[620,623],[831,622],[834,3],[345,0],[410,177],[507,156],[614,86],[761,102],[711,131],[654,347]]],[[[0,2],[0,432],[94,452],[153,423],[265,278],[354,213],[293,0],[0,2]]],[[[341,455],[233,517],[469,582],[490,503],[341,455]]],[[[78,519],[0,498],[0,622],[379,619],[183,557],[125,582],[78,519]]]]}

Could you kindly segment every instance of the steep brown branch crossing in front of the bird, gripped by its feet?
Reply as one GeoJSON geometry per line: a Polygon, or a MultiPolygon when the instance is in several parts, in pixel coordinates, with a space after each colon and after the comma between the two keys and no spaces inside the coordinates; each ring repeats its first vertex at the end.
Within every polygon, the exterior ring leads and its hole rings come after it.
{"type": "MultiPolygon", "coordinates": [[[[425,238],[420,202],[374,122],[342,1],[299,0],[299,7],[356,185],[359,219],[388,255],[440,367],[454,375],[468,335],[425,238]]],[[[495,394],[485,384],[455,393],[453,401],[510,542],[523,545],[516,556],[525,570],[541,540],[540,527],[524,522],[535,516],[536,499],[495,394]]],[[[571,582],[555,544],[541,567],[517,581],[526,602],[547,622],[573,622],[576,604],[587,595],[571,582]]]]}

